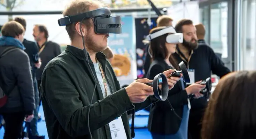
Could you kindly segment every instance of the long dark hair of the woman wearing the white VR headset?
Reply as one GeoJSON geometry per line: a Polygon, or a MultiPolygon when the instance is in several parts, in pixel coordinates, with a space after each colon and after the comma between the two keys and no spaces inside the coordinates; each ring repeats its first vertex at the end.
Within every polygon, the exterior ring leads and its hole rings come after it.
{"type": "MultiPolygon", "coordinates": [[[[160,30],[163,30],[166,28],[166,26],[161,26],[161,27],[155,27],[153,28],[149,34],[153,34],[155,32],[158,32],[160,30]]],[[[170,33],[169,33],[170,34],[170,33]]],[[[161,35],[153,40],[150,41],[150,53],[152,54],[153,60],[155,58],[162,58],[166,59],[168,57],[168,50],[165,47],[166,43],[166,36],[168,34],[161,35]]],[[[172,55],[169,57],[170,63],[175,69],[179,69],[177,61],[172,57],[172,55]]]]}

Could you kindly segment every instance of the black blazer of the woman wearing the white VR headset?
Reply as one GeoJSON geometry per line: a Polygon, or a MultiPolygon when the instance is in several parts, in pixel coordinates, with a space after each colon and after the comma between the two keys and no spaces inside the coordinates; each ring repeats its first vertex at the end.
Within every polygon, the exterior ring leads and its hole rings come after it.
{"type": "MultiPolygon", "coordinates": [[[[149,67],[147,78],[153,80],[154,77],[171,67],[167,65],[164,59],[157,58],[153,60],[149,67]]],[[[188,96],[186,90],[181,89],[181,81],[169,91],[168,100],[170,101],[174,111],[183,117],[183,107],[188,104],[188,96]]],[[[184,83],[185,85],[185,83],[184,83]]],[[[178,132],[181,120],[177,115],[171,111],[171,107],[168,101],[158,101],[153,104],[149,119],[148,119],[148,130],[157,134],[175,134],[178,132]]]]}

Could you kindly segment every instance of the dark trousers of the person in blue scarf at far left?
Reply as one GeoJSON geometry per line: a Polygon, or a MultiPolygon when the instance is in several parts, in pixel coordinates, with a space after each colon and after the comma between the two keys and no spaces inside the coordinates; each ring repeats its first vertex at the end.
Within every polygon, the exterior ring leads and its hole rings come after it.
{"type": "Polygon", "coordinates": [[[21,138],[22,124],[24,122],[25,113],[2,113],[5,120],[5,136],[3,139],[21,138]]]}

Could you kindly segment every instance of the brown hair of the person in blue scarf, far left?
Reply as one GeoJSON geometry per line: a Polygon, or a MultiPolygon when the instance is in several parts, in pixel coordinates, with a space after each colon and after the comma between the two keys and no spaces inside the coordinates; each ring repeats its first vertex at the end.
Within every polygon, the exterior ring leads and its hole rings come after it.
{"type": "Polygon", "coordinates": [[[16,21],[9,21],[5,23],[1,29],[2,36],[13,38],[23,34],[24,32],[24,27],[16,21]]]}

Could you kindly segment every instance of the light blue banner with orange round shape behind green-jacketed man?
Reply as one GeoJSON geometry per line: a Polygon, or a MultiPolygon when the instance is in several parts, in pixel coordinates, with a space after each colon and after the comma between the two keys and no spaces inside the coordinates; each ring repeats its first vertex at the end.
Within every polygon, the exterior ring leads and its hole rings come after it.
{"type": "Polygon", "coordinates": [[[130,84],[137,77],[135,26],[132,16],[122,17],[122,34],[109,34],[108,46],[114,53],[111,65],[120,85],[130,84]]]}

